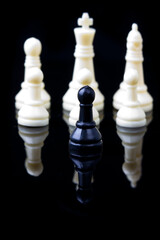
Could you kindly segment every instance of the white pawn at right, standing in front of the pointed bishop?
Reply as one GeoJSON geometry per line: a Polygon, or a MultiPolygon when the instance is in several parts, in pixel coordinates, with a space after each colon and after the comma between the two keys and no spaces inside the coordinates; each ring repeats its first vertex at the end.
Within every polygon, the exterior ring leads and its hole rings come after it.
{"type": "Polygon", "coordinates": [[[135,69],[127,69],[124,75],[126,94],[123,106],[118,110],[116,123],[123,127],[142,127],[146,125],[146,115],[137,99],[138,73],[135,69]]]}

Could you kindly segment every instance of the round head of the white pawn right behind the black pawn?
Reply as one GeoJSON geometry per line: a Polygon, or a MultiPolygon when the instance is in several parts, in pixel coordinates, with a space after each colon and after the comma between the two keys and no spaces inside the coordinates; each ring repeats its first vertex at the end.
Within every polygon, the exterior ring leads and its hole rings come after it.
{"type": "Polygon", "coordinates": [[[78,72],[77,81],[82,85],[89,85],[92,81],[92,73],[87,68],[82,68],[78,72]]]}

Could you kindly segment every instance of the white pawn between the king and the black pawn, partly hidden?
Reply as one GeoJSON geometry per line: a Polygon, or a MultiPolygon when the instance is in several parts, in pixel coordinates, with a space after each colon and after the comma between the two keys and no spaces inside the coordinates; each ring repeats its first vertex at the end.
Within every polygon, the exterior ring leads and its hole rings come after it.
{"type": "MultiPolygon", "coordinates": [[[[92,82],[92,74],[87,68],[82,68],[79,70],[79,73],[77,74],[77,82],[79,83],[79,89],[82,88],[85,85],[89,85],[92,82]]],[[[78,93],[77,93],[77,98],[78,98],[78,93]]],[[[69,114],[69,126],[73,129],[76,126],[76,122],[79,119],[79,111],[80,111],[80,106],[79,106],[79,101],[76,101],[75,107],[70,111],[69,114]]],[[[99,119],[99,113],[97,109],[93,106],[92,107],[92,112],[93,112],[93,120],[96,123],[96,126],[99,126],[100,119],[99,119]]]]}

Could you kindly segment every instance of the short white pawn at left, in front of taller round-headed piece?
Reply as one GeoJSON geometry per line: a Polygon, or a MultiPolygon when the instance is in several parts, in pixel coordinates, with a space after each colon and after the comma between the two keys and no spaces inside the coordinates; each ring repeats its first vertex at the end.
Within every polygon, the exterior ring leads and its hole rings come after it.
{"type": "Polygon", "coordinates": [[[31,68],[28,71],[26,76],[27,96],[18,112],[18,124],[30,127],[48,125],[49,113],[41,98],[42,80],[43,73],[39,68],[31,68]]]}

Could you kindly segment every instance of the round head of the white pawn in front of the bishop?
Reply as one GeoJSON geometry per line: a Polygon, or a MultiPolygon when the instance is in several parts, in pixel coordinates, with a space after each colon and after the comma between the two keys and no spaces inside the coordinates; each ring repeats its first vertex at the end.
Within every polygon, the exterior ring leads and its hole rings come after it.
{"type": "Polygon", "coordinates": [[[138,72],[136,69],[128,69],[124,74],[124,82],[128,85],[136,85],[138,83],[138,72]]]}

